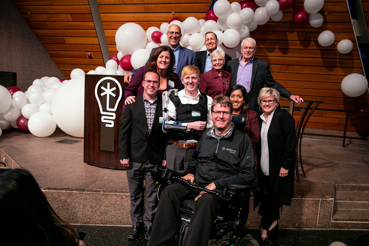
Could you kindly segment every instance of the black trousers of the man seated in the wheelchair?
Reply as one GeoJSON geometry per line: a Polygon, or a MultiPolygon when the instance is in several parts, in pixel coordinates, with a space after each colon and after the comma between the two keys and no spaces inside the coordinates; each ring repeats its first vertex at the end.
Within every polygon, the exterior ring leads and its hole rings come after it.
{"type": "MultiPolygon", "coordinates": [[[[220,192],[220,190],[216,190],[220,192]]],[[[168,185],[161,195],[148,246],[172,246],[178,233],[179,209],[185,199],[194,199],[199,191],[182,184],[168,185]]],[[[195,202],[191,223],[183,246],[206,246],[219,211],[221,200],[204,194],[195,202]]]]}

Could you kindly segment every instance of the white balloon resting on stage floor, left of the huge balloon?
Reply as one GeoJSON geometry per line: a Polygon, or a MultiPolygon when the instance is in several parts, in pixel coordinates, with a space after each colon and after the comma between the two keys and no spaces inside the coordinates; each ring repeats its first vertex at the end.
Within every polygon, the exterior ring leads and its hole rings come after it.
{"type": "Polygon", "coordinates": [[[49,113],[37,112],[28,120],[28,130],[36,137],[48,137],[55,129],[55,120],[49,113]]]}

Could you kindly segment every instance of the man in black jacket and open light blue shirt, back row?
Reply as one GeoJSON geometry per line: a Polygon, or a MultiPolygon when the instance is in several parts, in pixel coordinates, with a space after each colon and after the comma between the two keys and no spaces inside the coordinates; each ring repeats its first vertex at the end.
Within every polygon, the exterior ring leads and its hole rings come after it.
{"type": "MultiPolygon", "coordinates": [[[[198,68],[200,69],[201,74],[210,71],[213,66],[211,65],[210,61],[210,54],[215,49],[217,49],[217,46],[219,44],[219,40],[217,37],[217,34],[213,32],[207,32],[205,34],[205,46],[206,50],[204,51],[197,51],[196,57],[197,57],[197,64],[199,64],[198,68]]],[[[227,66],[227,62],[230,61],[232,57],[225,54],[225,62],[223,68],[225,69],[227,66]]]]}

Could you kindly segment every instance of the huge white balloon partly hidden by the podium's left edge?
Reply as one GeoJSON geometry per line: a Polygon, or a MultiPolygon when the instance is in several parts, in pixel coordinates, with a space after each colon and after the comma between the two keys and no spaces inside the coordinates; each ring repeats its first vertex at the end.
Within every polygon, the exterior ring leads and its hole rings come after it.
{"type": "Polygon", "coordinates": [[[85,115],[85,80],[71,79],[59,88],[51,102],[56,124],[65,133],[83,137],[85,115]]]}

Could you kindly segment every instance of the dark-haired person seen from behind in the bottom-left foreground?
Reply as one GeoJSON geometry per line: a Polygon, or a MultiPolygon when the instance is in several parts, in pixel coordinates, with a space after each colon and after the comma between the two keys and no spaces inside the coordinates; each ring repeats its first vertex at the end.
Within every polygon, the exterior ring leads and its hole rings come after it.
{"type": "Polygon", "coordinates": [[[1,245],[86,246],[26,170],[0,169],[1,245]]]}

